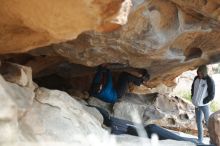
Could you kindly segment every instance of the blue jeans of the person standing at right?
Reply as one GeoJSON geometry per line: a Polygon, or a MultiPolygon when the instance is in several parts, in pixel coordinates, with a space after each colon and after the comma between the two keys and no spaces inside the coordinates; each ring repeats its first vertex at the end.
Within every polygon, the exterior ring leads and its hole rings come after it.
{"type": "Polygon", "coordinates": [[[202,113],[205,117],[206,126],[208,126],[208,120],[210,115],[209,105],[199,106],[195,108],[196,113],[196,124],[198,128],[198,141],[203,141],[203,126],[202,126],[202,113]]]}

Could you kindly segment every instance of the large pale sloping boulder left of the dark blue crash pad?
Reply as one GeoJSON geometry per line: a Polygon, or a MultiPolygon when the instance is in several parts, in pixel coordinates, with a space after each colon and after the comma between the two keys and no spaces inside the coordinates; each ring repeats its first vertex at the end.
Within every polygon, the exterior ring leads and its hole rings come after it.
{"type": "Polygon", "coordinates": [[[74,142],[79,137],[103,135],[101,122],[65,92],[39,88],[20,128],[28,140],[74,142]]]}

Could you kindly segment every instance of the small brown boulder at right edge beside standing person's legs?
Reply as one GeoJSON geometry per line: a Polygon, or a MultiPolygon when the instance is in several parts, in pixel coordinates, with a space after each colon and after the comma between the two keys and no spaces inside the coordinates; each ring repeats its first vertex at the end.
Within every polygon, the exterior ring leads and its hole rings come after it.
{"type": "Polygon", "coordinates": [[[209,134],[210,139],[213,144],[216,146],[220,146],[220,111],[213,113],[209,118],[209,134]]]}

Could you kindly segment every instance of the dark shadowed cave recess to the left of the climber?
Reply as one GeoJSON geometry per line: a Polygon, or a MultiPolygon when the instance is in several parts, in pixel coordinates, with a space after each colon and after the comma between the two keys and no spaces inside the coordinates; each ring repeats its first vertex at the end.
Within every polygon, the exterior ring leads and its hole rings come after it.
{"type": "Polygon", "coordinates": [[[96,67],[62,62],[46,68],[33,76],[33,81],[41,87],[57,89],[67,93],[88,91],[96,67]]]}

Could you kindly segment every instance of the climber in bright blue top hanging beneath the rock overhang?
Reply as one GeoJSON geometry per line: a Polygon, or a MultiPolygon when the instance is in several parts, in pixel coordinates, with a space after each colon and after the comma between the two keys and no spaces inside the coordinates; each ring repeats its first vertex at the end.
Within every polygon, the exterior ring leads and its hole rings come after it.
{"type": "Polygon", "coordinates": [[[97,72],[93,78],[89,94],[108,103],[115,103],[122,97],[129,88],[129,83],[140,86],[144,81],[149,80],[150,76],[145,69],[139,69],[142,76],[137,77],[128,72],[122,72],[119,75],[117,85],[113,85],[112,73],[106,65],[98,66],[97,72]]]}

